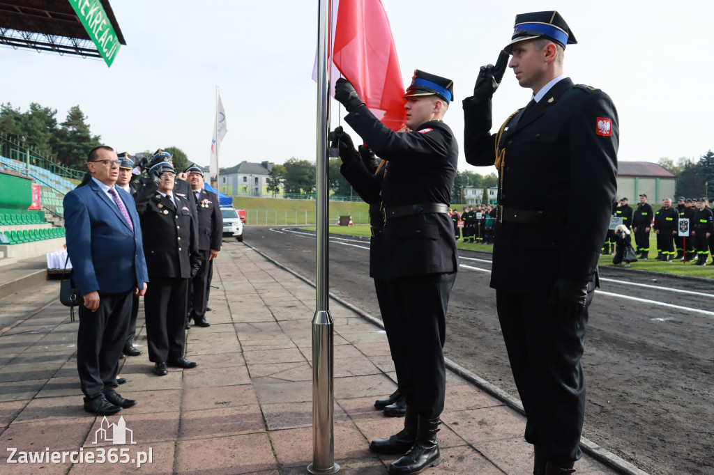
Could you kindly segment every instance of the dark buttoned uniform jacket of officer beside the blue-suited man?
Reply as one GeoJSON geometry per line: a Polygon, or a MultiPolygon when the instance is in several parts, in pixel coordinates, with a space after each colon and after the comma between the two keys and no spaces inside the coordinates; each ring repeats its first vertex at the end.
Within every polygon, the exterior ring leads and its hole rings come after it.
{"type": "Polygon", "coordinates": [[[167,196],[159,194],[154,182],[146,183],[134,198],[141,217],[149,277],[190,278],[191,266],[201,260],[191,203],[174,195],[174,206],[167,196]]]}

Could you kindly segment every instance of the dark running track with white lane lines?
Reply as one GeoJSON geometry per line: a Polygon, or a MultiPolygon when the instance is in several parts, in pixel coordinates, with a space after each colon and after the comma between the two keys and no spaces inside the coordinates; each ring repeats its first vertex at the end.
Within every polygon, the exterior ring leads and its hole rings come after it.
{"type": "MultiPolygon", "coordinates": [[[[245,241],[314,282],[314,233],[246,226],[245,241]]],[[[369,240],[330,241],[331,292],[380,317],[369,240]]],[[[488,287],[491,257],[460,257],[445,354],[517,396],[488,287]]],[[[585,337],[583,436],[650,474],[714,474],[714,280],[608,269],[600,277],[585,337]]]]}

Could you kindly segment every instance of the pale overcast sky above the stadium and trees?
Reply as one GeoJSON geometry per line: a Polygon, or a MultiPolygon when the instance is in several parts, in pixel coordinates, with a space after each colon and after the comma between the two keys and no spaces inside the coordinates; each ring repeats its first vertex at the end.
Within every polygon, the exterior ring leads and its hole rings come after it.
{"type": "MultiPolygon", "coordinates": [[[[607,92],[620,116],[620,160],[699,158],[714,148],[714,2],[385,0],[405,85],[415,68],[454,80],[445,121],[463,159],[461,100],[481,64],[495,62],[516,14],[558,9],[578,39],[565,73],[607,92]],[[558,8],[562,7],[562,8],[558,8]]],[[[91,131],[118,151],[176,146],[208,165],[216,86],[228,134],[221,167],[243,160],[313,160],[316,0],[113,0],[126,39],[114,64],[0,47],[0,101],[58,110],[78,105],[91,131]]],[[[508,70],[494,124],[530,98],[508,70]]],[[[332,102],[333,126],[338,123],[332,102]]],[[[344,115],[344,111],[341,111],[344,115]]]]}

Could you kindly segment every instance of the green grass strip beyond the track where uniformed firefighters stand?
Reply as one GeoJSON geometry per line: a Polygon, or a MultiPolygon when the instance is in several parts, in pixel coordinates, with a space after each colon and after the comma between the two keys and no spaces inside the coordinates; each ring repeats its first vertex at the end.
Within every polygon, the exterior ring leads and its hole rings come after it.
{"type": "MultiPolygon", "coordinates": [[[[314,231],[315,227],[306,226],[303,229],[314,231]]],[[[361,237],[369,237],[370,235],[368,225],[330,226],[330,233],[361,237]]],[[[459,249],[493,252],[493,245],[491,244],[471,244],[459,241],[457,245],[459,249]]],[[[695,277],[708,277],[710,279],[714,279],[714,266],[706,265],[705,267],[700,267],[698,265],[693,265],[693,263],[684,264],[679,260],[673,262],[660,262],[655,260],[655,257],[657,257],[655,233],[650,233],[650,259],[633,262],[630,265],[630,269],[662,272],[664,274],[693,275],[695,277]]],[[[712,257],[709,256],[707,263],[709,264],[711,260],[712,257]]],[[[603,267],[622,267],[622,265],[613,265],[613,256],[611,255],[601,255],[598,264],[603,267]]]]}

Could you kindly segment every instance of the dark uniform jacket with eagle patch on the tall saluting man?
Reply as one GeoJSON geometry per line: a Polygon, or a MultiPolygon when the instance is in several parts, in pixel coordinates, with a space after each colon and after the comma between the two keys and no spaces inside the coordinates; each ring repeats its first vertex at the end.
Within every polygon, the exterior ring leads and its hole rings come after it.
{"type": "MultiPolygon", "coordinates": [[[[493,165],[491,101],[466,98],[463,111],[466,161],[493,165]]],[[[491,287],[538,293],[558,278],[597,282],[617,188],[615,106],[602,91],[563,78],[523,115],[501,137],[498,204],[563,213],[565,224],[496,223],[491,287]]]]}

